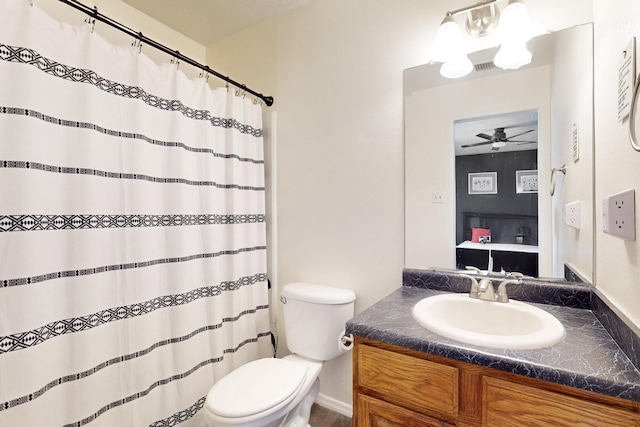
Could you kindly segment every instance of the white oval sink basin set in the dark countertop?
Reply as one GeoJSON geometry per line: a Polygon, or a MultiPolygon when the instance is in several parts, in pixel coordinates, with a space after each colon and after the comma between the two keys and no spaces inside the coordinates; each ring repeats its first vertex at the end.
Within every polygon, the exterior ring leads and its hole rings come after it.
{"type": "Polygon", "coordinates": [[[553,315],[520,301],[482,301],[442,294],[419,301],[413,318],[446,338],[493,348],[537,349],[560,342],[564,326],[553,315]]]}

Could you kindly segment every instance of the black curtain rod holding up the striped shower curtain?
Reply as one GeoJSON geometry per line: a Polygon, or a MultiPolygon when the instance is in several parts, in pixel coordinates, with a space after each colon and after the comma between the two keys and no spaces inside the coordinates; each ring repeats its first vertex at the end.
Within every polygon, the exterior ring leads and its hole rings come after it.
{"type": "Polygon", "coordinates": [[[90,17],[92,17],[93,19],[97,19],[100,22],[104,22],[105,24],[122,31],[123,33],[128,34],[129,36],[137,39],[140,43],[147,44],[149,46],[152,46],[166,54],[169,54],[171,56],[173,56],[174,58],[176,58],[176,60],[179,61],[183,61],[186,62],[189,65],[192,65],[196,68],[199,68],[203,71],[205,71],[208,74],[213,74],[214,76],[218,77],[221,80],[224,80],[227,83],[232,84],[233,86],[237,87],[238,89],[241,89],[247,93],[250,93],[260,99],[262,99],[264,101],[265,104],[267,104],[268,107],[270,107],[271,105],[273,105],[273,97],[272,96],[265,96],[261,93],[258,93],[254,90],[249,89],[248,87],[246,87],[245,85],[238,83],[232,79],[230,79],[227,76],[224,76],[220,73],[218,73],[215,70],[212,70],[211,68],[209,68],[208,65],[202,65],[199,62],[189,58],[188,56],[184,56],[183,54],[180,53],[180,51],[177,50],[171,50],[168,47],[166,47],[163,44],[158,43],[157,41],[150,39],[144,35],[142,35],[141,32],[136,33],[135,31],[133,31],[131,28],[128,28],[124,25],[122,25],[121,23],[109,18],[108,16],[105,16],[103,14],[101,14],[100,12],[98,12],[98,8],[97,7],[93,7],[90,8],[89,6],[86,6],[82,3],[80,3],[77,0],[58,0],[61,3],[64,3],[68,6],[71,6],[87,15],[89,15],[90,17]]]}

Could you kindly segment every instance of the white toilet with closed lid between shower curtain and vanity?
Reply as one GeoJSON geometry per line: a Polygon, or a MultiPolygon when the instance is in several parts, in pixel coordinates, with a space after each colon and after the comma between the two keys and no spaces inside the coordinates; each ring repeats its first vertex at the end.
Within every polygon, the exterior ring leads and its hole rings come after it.
{"type": "Polygon", "coordinates": [[[292,354],[238,367],[216,382],[203,412],[209,427],[307,427],[325,360],[344,354],[344,325],[354,314],[348,289],[310,283],[282,288],[284,330],[292,354]]]}

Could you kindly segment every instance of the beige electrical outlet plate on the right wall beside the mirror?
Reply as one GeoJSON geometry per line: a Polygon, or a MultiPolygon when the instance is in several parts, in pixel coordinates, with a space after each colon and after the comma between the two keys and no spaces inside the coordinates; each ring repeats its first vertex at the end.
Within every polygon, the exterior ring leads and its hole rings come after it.
{"type": "Polygon", "coordinates": [[[602,201],[602,230],[612,236],[636,240],[635,190],[613,194],[602,201]]]}

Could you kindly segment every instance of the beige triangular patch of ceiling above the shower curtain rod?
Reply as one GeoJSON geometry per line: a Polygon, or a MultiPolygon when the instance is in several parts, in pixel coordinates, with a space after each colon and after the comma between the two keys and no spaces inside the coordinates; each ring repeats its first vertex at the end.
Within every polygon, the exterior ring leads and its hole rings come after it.
{"type": "Polygon", "coordinates": [[[309,0],[123,0],[157,21],[208,46],[309,0]]]}

